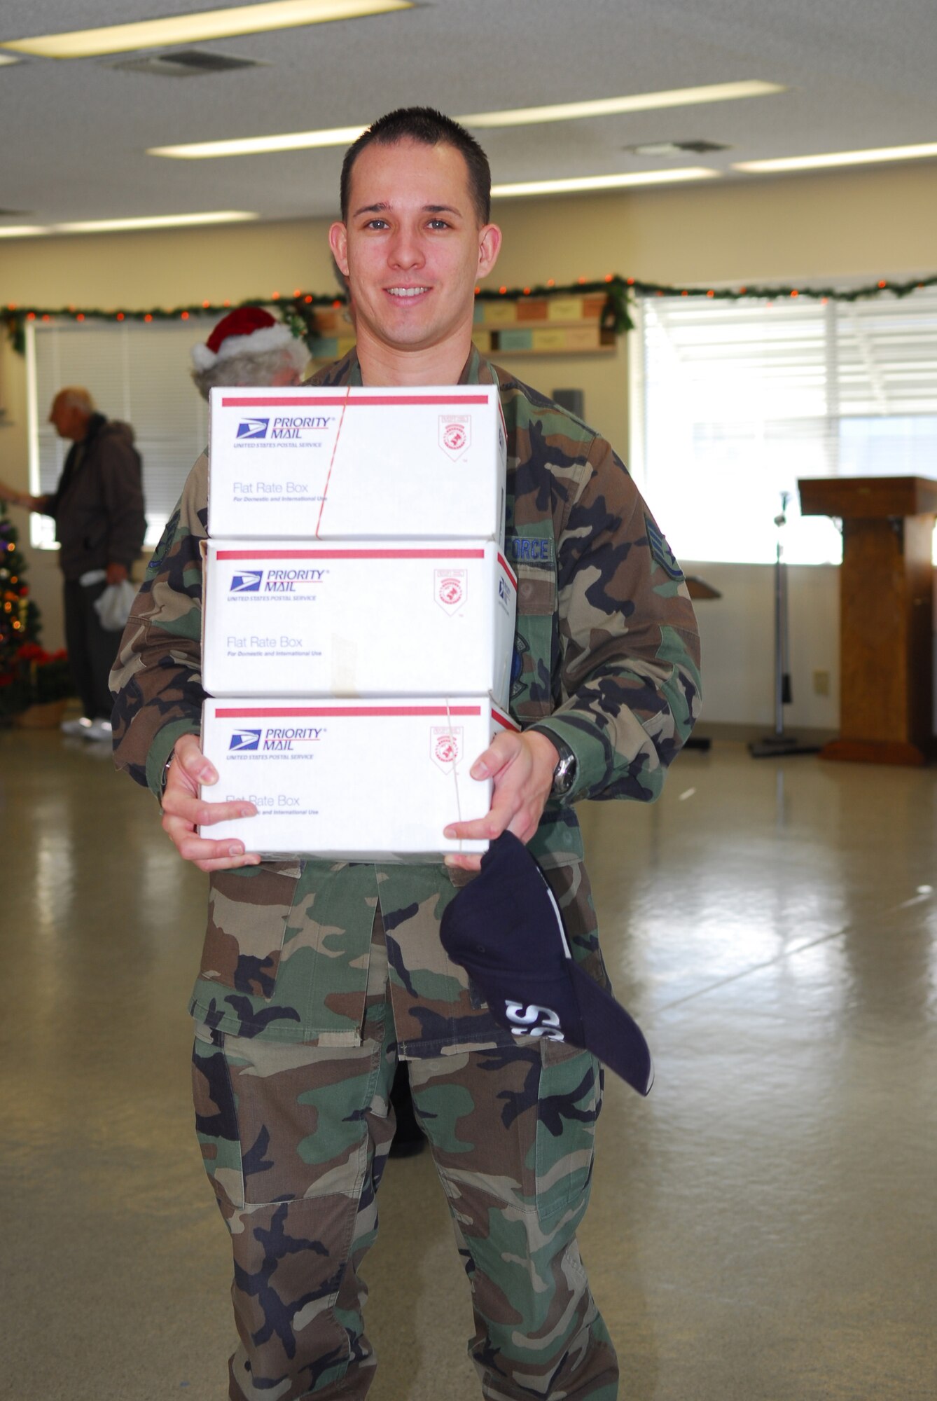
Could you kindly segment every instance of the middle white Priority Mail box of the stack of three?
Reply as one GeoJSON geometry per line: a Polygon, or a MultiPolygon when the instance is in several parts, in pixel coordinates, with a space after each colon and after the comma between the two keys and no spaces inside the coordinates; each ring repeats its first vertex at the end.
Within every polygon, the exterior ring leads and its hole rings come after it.
{"type": "Polygon", "coordinates": [[[494,541],[204,545],[213,696],[487,695],[507,709],[517,579],[494,541]]]}

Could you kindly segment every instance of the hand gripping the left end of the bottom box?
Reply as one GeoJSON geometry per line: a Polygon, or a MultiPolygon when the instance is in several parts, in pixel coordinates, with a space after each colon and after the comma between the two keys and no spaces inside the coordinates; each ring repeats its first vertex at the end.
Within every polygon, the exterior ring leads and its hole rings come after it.
{"type": "Polygon", "coordinates": [[[202,754],[193,734],[176,741],[172,764],[162,794],[162,831],[183,860],[202,871],[234,870],[238,866],[259,866],[256,852],[245,852],[244,842],[225,839],[211,842],[199,836],[197,828],[224,822],[234,817],[256,817],[254,803],[206,803],[199,797],[199,785],[217,783],[214,766],[202,754]]]}

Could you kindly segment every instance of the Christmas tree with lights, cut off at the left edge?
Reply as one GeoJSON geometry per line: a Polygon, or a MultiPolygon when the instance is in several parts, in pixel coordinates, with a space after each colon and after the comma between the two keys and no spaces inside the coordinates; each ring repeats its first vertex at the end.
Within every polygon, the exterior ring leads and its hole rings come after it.
{"type": "Polygon", "coordinates": [[[42,622],[22,577],[20,532],[0,502],[0,720],[74,693],[64,651],[39,646],[42,622]]]}

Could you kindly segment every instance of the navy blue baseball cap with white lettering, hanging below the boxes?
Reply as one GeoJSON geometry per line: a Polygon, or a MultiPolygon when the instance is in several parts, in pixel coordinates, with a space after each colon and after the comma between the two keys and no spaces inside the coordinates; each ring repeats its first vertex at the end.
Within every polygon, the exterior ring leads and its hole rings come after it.
{"type": "Polygon", "coordinates": [[[445,906],[440,937],[499,1026],[569,1041],[639,1094],[650,1091],[654,1065],[641,1028],[573,958],[553,891],[513,832],[490,843],[480,873],[445,906]]]}

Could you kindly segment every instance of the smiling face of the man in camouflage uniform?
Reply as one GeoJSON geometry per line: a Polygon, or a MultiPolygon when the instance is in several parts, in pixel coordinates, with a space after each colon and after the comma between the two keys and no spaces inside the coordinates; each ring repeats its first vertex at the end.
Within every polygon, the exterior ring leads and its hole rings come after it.
{"type": "Polygon", "coordinates": [[[391,352],[452,347],[472,336],[475,284],[500,247],[479,226],[465,158],[454,146],[367,146],[352,168],[347,224],[333,224],[359,345],[391,352]]]}

